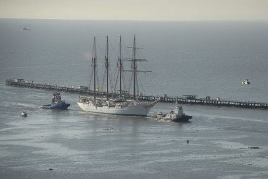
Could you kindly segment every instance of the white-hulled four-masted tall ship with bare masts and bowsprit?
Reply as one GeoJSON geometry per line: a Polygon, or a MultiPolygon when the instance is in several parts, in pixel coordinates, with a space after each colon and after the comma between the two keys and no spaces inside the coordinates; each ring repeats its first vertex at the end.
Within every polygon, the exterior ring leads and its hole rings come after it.
{"type": "Polygon", "coordinates": [[[126,115],[126,116],[147,116],[150,109],[164,97],[159,97],[158,100],[153,102],[144,102],[137,100],[136,94],[136,85],[137,85],[137,73],[139,72],[151,72],[151,71],[143,71],[137,69],[137,62],[148,61],[146,59],[139,59],[136,55],[136,50],[139,49],[136,47],[136,37],[134,36],[134,43],[133,47],[132,58],[125,58],[122,59],[122,52],[121,52],[121,36],[120,36],[120,57],[118,57],[118,67],[119,67],[119,83],[120,83],[120,90],[119,96],[117,98],[110,98],[109,97],[109,88],[108,88],[108,73],[109,73],[109,48],[108,48],[108,36],[106,40],[106,56],[105,56],[105,75],[106,75],[106,98],[104,97],[96,97],[96,76],[97,76],[97,53],[96,53],[96,37],[94,37],[94,57],[92,57],[92,66],[93,66],[93,75],[94,75],[94,96],[79,96],[78,99],[78,106],[87,112],[92,113],[101,113],[101,114],[112,114],[112,115],[126,115]],[[131,62],[131,69],[130,70],[123,70],[122,68],[122,61],[130,61],[131,62]],[[133,80],[133,99],[125,99],[123,97],[123,90],[122,90],[122,71],[130,71],[132,73],[131,79],[133,80]]]}

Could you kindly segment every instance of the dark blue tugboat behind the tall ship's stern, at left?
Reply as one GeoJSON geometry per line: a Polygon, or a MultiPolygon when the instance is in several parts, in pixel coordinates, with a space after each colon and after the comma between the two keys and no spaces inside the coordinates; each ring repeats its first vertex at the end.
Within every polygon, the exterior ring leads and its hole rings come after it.
{"type": "Polygon", "coordinates": [[[51,104],[42,105],[40,108],[43,109],[58,109],[58,110],[67,110],[70,104],[66,103],[65,101],[61,100],[60,93],[54,93],[51,104]]]}

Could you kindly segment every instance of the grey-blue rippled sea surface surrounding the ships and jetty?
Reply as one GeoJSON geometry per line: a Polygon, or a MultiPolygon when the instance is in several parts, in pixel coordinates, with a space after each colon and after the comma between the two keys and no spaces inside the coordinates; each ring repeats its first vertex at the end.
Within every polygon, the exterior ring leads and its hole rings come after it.
{"type": "Polygon", "coordinates": [[[153,71],[139,74],[139,92],[268,101],[267,21],[0,19],[0,178],[268,178],[267,110],[184,105],[193,119],[174,123],[154,118],[174,104],[146,118],[95,115],[62,93],[69,110],[44,110],[53,91],[5,85],[90,85],[96,35],[101,89],[109,35],[114,88],[118,36],[131,58],[134,34],[138,57],[149,60],[138,67],[153,71]]]}

